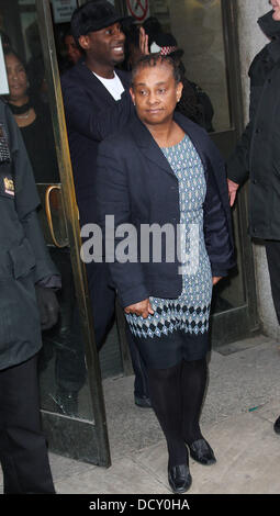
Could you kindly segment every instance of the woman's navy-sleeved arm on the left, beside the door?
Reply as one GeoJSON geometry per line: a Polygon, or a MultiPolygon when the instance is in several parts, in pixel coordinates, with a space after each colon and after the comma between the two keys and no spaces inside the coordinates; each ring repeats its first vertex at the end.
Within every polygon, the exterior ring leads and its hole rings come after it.
{"type": "MultiPolygon", "coordinates": [[[[111,249],[109,269],[117,291],[121,305],[123,307],[131,306],[141,301],[147,300],[149,293],[147,291],[142,263],[137,253],[137,235],[136,229],[126,226],[128,235],[125,235],[125,242],[131,249],[136,250],[136,259],[134,262],[120,262],[117,260],[117,246],[123,240],[120,226],[122,224],[131,224],[131,199],[127,183],[127,171],[125,169],[125,159],[122,155],[123,149],[117,147],[113,141],[103,142],[99,147],[99,157],[97,164],[97,173],[94,177],[94,202],[98,210],[98,224],[103,232],[103,243],[105,249],[111,249]],[[114,216],[113,232],[105,233],[105,217],[114,216]],[[115,236],[115,231],[121,236],[115,236]],[[135,231],[133,231],[135,229],[135,231]],[[113,254],[113,255],[112,255],[113,254]]],[[[123,226],[125,232],[125,227],[123,226]]],[[[103,248],[103,259],[104,251],[103,248]]]]}

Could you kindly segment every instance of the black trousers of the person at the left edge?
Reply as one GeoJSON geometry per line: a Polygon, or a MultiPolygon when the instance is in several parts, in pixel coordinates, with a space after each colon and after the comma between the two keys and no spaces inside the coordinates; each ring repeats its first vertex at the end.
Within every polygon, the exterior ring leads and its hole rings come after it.
{"type": "Polygon", "coordinates": [[[40,419],[37,356],[0,371],[0,461],[5,494],[54,494],[40,419]]]}

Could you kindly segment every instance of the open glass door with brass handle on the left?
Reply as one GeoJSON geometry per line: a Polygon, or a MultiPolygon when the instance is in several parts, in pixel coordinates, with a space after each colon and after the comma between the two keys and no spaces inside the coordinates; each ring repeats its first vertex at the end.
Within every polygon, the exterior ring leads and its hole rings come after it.
{"type": "Polygon", "coordinates": [[[48,0],[1,1],[1,41],[10,86],[4,100],[33,165],[42,200],[42,228],[63,281],[57,292],[59,322],[43,332],[40,355],[45,434],[52,451],[108,467],[111,459],[100,361],[80,260],[79,214],[53,31],[55,16],[59,23],[66,22],[76,5],[76,1],[53,1],[51,10],[48,0]],[[59,11],[66,3],[68,11],[59,11]],[[20,77],[16,88],[15,75],[20,77]]]}

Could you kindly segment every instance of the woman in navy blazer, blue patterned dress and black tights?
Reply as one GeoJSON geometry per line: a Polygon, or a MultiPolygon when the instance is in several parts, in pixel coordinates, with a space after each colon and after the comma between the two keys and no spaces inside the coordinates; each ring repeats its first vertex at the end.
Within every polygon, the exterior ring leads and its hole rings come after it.
{"type": "Polygon", "coordinates": [[[100,146],[96,202],[102,227],[111,224],[107,215],[114,216],[115,256],[110,253],[110,226],[107,258],[147,363],[153,408],[167,440],[169,484],[175,493],[182,493],[191,484],[188,449],[200,463],[215,462],[199,418],[206,383],[212,284],[234,266],[231,211],[219,152],[204,130],[175,113],[182,94],[175,61],[145,56],[132,80],[137,117],[100,146]],[[136,259],[138,237],[152,224],[161,229],[168,224],[173,229],[173,249],[181,246],[188,259],[172,256],[172,238],[156,247],[154,261],[147,259],[150,235],[141,239],[136,259]],[[125,244],[131,260],[121,253],[125,244]]]}

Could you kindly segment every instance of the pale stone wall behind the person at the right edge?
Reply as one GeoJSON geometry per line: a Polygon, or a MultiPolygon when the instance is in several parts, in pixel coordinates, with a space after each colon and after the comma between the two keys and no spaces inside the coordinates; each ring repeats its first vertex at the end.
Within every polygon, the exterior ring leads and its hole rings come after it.
{"type": "MultiPolygon", "coordinates": [[[[268,42],[260,31],[257,20],[269,11],[267,0],[236,0],[238,5],[239,55],[242,66],[243,101],[245,123],[248,120],[249,80],[248,67],[257,52],[268,42]]],[[[266,253],[262,245],[254,244],[259,316],[264,332],[280,338],[280,327],[271,299],[266,253]]]]}

